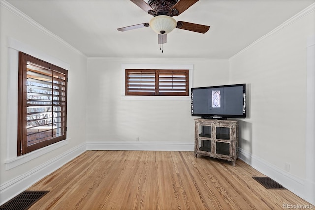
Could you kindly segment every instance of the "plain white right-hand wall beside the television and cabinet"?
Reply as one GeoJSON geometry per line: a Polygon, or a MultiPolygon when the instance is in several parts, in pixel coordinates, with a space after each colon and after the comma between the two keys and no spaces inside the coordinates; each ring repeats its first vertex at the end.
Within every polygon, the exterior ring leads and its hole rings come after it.
{"type": "MultiPolygon", "coordinates": [[[[247,83],[249,115],[240,124],[239,142],[248,154],[243,158],[249,164],[263,162],[301,187],[306,177],[306,46],[314,21],[313,5],[230,59],[230,81],[247,83]]],[[[305,195],[302,188],[277,181],[305,195]]]]}

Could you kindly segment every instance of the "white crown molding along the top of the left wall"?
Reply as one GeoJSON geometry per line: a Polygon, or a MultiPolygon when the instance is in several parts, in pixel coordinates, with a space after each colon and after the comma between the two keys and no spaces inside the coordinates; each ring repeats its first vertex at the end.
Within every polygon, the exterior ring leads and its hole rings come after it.
{"type": "Polygon", "coordinates": [[[59,36],[55,35],[54,33],[52,33],[51,31],[49,31],[48,29],[46,29],[45,27],[43,27],[42,25],[40,25],[39,23],[37,23],[36,21],[34,21],[31,17],[27,16],[26,14],[24,14],[23,12],[21,12],[20,10],[18,10],[17,8],[15,8],[14,6],[12,6],[10,3],[8,3],[6,0],[0,0],[0,6],[4,7],[6,9],[8,9],[10,12],[12,12],[13,14],[17,15],[18,17],[20,17],[21,19],[25,20],[26,22],[28,22],[29,24],[31,24],[32,26],[34,26],[36,29],[44,32],[46,35],[49,35],[50,37],[54,38],[55,40],[57,40],[58,42],[60,42],[61,44],[63,44],[64,46],[68,47],[69,49],[71,49],[72,51],[84,56],[85,58],[87,58],[87,56],[85,54],[83,54],[81,51],[79,51],[78,49],[76,49],[75,47],[73,47],[72,45],[70,45],[68,42],[64,41],[62,38],[60,38],[59,36]]]}

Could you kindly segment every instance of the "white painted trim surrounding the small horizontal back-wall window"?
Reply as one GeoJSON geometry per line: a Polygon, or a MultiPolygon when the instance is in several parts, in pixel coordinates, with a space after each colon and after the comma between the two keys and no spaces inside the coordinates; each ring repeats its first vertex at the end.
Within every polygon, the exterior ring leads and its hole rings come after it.
{"type": "Polygon", "coordinates": [[[191,101],[191,88],[193,87],[193,64],[121,64],[121,100],[131,101],[191,101]],[[163,69],[163,70],[189,70],[188,96],[130,96],[125,95],[125,69],[163,69]]]}

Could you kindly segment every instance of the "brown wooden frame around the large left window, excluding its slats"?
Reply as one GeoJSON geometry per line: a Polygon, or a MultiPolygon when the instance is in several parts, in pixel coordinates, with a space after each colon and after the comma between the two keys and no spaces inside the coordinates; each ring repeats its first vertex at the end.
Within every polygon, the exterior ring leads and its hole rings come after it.
{"type": "MultiPolygon", "coordinates": [[[[18,136],[17,136],[17,156],[25,155],[29,152],[42,149],[46,146],[49,146],[51,144],[66,140],[66,128],[67,128],[67,79],[68,79],[68,71],[58,67],[56,65],[53,65],[51,63],[48,63],[46,61],[43,61],[41,59],[35,58],[29,54],[19,52],[19,73],[18,73],[18,136]],[[60,102],[64,102],[63,105],[60,107],[63,107],[62,113],[64,114],[63,121],[61,122],[61,128],[62,128],[62,134],[60,136],[52,137],[50,139],[32,144],[27,145],[27,131],[26,131],[26,124],[27,124],[27,114],[26,114],[26,107],[27,107],[27,94],[26,94],[26,78],[27,78],[27,61],[30,61],[34,64],[38,64],[39,66],[47,68],[47,70],[52,70],[52,78],[55,78],[53,75],[53,72],[56,72],[57,74],[61,73],[65,76],[65,87],[63,90],[59,90],[64,92],[64,95],[61,97],[63,99],[59,99],[60,102]]],[[[57,79],[57,78],[56,78],[57,79]]],[[[58,79],[57,79],[58,80],[58,79]]],[[[52,87],[53,88],[53,87],[52,87]]],[[[53,99],[52,99],[53,100],[53,99]]],[[[52,104],[52,107],[54,105],[52,104]]],[[[53,125],[53,124],[51,124],[53,125]]],[[[53,135],[53,134],[52,134],[53,135]]]]}

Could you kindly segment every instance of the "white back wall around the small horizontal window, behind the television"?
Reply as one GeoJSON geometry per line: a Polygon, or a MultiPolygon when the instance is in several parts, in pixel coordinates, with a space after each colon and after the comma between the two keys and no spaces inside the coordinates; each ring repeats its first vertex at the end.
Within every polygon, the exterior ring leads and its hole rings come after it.
{"type": "MultiPolygon", "coordinates": [[[[180,150],[183,149],[181,144],[184,144],[188,145],[186,147],[188,150],[193,150],[194,120],[191,117],[190,98],[188,97],[186,101],[178,99],[163,101],[158,100],[158,96],[149,97],[156,100],[138,100],[138,97],[126,99],[126,97],[122,97],[122,81],[124,81],[122,64],[164,64],[166,66],[167,64],[192,64],[193,87],[201,87],[227,84],[229,61],[88,59],[88,145],[91,146],[91,143],[94,143],[97,145],[96,148],[100,148],[105,144],[102,148],[109,149],[112,148],[109,147],[109,142],[111,144],[125,142],[125,146],[119,145],[120,147],[118,146],[116,149],[150,149],[152,143],[157,143],[167,144],[165,147],[160,145],[160,149],[163,150],[167,148],[180,150]],[[139,142],[137,142],[137,138],[139,138],[139,142]],[[150,145],[143,147],[148,143],[150,145]],[[126,144],[128,144],[127,147],[126,144]],[[131,147],[135,144],[138,147],[131,147]],[[176,145],[178,145],[177,149],[176,145]]],[[[91,147],[91,149],[95,149],[95,147],[91,147]]]]}

